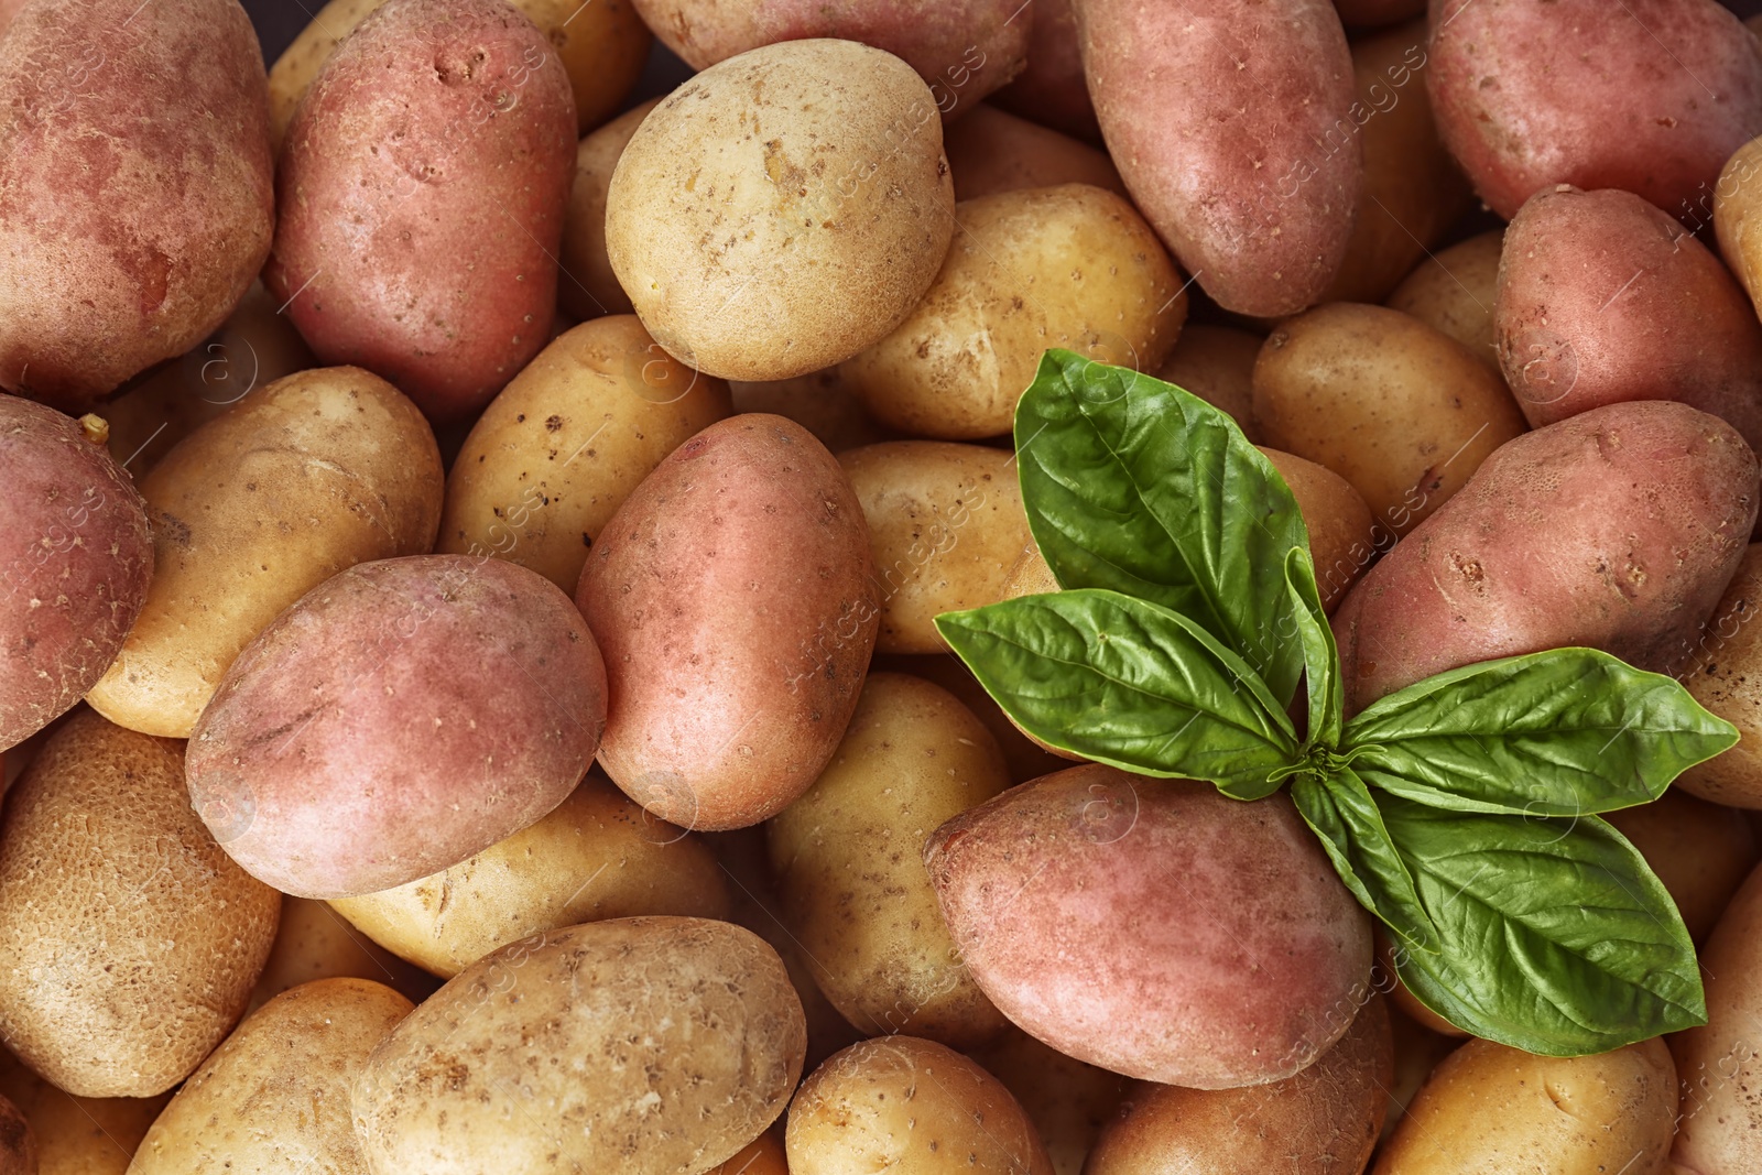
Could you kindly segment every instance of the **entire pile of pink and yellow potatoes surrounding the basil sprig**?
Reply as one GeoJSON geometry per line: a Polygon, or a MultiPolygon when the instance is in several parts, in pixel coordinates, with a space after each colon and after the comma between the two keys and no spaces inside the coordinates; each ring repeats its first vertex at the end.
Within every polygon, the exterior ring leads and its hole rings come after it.
{"type": "Polygon", "coordinates": [[[0,0],[0,1175],[1762,1171],[1714,0],[0,0]],[[1464,1041],[1284,796],[1011,726],[1054,347],[1263,446],[1348,708],[1737,724],[1610,817],[1706,1027],[1464,1041]]]}

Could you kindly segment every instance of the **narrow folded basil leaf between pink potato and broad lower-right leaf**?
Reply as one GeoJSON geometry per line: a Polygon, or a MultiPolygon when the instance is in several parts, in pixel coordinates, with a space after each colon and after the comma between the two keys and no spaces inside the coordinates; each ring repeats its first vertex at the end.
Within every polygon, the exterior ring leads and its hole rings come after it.
{"type": "Polygon", "coordinates": [[[1364,780],[1351,768],[1336,768],[1325,777],[1302,775],[1292,782],[1292,802],[1322,839],[1334,870],[1359,904],[1410,951],[1436,951],[1438,928],[1364,780]]]}

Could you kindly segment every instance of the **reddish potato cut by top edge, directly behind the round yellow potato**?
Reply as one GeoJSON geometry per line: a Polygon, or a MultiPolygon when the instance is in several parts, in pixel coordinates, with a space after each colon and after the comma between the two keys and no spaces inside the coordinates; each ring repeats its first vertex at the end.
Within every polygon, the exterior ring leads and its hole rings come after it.
{"type": "Polygon", "coordinates": [[[692,69],[814,37],[886,49],[918,70],[943,118],[959,118],[1022,72],[1036,7],[1024,0],[633,2],[655,37],[692,69]]]}

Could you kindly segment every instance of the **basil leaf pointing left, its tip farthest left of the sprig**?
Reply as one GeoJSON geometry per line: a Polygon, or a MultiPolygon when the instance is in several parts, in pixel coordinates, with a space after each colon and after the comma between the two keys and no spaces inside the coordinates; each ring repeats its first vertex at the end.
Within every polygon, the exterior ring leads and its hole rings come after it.
{"type": "Polygon", "coordinates": [[[1022,729],[1085,759],[1260,798],[1297,752],[1290,717],[1242,659],[1156,604],[1078,588],[936,627],[1022,729]]]}

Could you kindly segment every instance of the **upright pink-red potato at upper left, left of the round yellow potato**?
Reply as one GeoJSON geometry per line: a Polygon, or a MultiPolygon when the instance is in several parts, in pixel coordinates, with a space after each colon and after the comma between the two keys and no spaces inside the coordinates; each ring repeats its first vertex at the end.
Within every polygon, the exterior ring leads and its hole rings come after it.
{"type": "Polygon", "coordinates": [[[389,0],[294,111],[264,282],[322,365],[442,425],[550,338],[574,93],[500,0],[389,0]]]}

